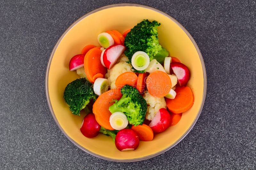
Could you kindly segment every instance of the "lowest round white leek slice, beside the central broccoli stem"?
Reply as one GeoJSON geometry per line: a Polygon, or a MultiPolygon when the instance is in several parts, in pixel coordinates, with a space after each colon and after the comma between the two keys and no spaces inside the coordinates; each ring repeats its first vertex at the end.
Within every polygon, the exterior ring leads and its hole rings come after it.
{"type": "Polygon", "coordinates": [[[122,130],[128,125],[128,120],[123,112],[117,111],[109,117],[109,123],[113,129],[122,130]]]}

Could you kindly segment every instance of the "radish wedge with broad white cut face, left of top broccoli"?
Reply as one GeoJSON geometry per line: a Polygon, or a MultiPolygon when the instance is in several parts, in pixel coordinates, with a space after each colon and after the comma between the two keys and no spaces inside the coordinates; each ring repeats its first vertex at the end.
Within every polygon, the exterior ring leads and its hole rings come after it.
{"type": "Polygon", "coordinates": [[[103,53],[103,62],[104,65],[111,69],[119,57],[124,53],[125,46],[121,44],[115,44],[108,47],[105,52],[103,53]]]}

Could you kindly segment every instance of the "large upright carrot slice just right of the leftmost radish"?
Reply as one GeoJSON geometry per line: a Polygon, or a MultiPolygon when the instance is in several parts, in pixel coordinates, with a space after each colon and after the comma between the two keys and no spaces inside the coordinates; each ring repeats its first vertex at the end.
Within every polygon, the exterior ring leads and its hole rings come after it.
{"type": "Polygon", "coordinates": [[[107,68],[100,62],[100,47],[90,49],[84,56],[84,72],[91,83],[97,78],[104,78],[107,68]]]}

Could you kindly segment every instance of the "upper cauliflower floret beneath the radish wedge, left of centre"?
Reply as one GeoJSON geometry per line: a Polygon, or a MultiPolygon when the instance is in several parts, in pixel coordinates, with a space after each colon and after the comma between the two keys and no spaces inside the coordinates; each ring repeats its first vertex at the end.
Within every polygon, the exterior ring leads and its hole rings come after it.
{"type": "Polygon", "coordinates": [[[119,61],[117,61],[117,64],[114,65],[110,70],[108,70],[108,73],[105,75],[106,79],[108,79],[110,89],[116,88],[116,78],[124,73],[124,72],[132,72],[132,65],[127,63],[128,57],[125,55],[121,56],[119,61]]]}

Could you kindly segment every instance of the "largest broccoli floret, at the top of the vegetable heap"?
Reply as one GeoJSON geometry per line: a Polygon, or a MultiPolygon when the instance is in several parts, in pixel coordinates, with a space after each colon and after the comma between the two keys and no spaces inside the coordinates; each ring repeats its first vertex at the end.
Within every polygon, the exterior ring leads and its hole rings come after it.
{"type": "MultiPolygon", "coordinates": [[[[124,54],[132,60],[132,55],[137,51],[143,51],[148,54],[150,61],[163,49],[158,42],[157,27],[160,25],[157,21],[143,20],[126,35],[124,45],[127,50],[124,54]]],[[[168,53],[169,54],[169,53],[168,53]]],[[[165,56],[166,57],[166,56],[165,56]]]]}

